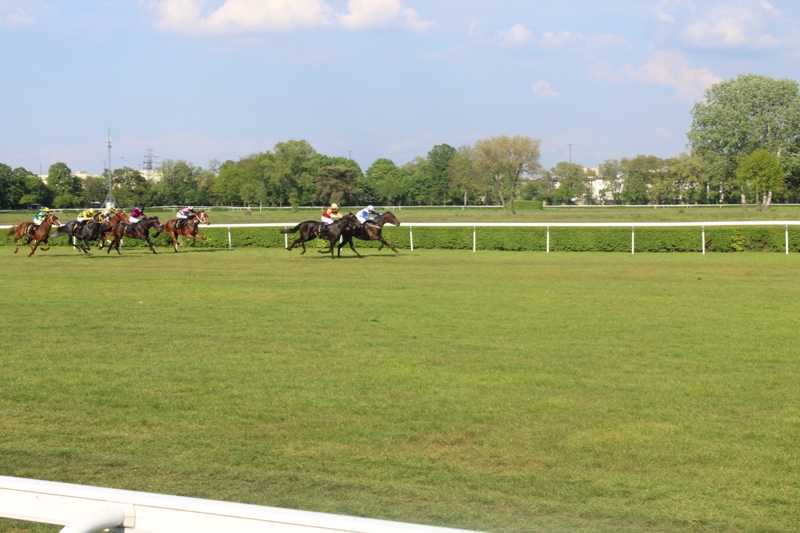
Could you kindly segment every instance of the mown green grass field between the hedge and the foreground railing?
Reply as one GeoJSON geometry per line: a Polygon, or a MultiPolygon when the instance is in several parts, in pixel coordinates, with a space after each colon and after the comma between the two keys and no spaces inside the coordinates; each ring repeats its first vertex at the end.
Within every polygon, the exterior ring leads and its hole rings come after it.
{"type": "Polygon", "coordinates": [[[800,529],[798,254],[0,251],[0,475],[492,532],[800,529]]]}

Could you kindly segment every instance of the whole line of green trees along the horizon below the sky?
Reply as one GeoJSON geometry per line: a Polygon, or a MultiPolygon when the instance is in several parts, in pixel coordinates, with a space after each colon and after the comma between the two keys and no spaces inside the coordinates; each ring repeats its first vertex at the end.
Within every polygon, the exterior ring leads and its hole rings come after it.
{"type": "MultiPolygon", "coordinates": [[[[540,141],[501,135],[472,145],[434,146],[398,166],[377,159],[362,171],[305,140],[208,168],[166,160],[160,180],[130,167],[112,175],[113,194],[133,205],[300,206],[492,204],[515,213],[522,198],[548,204],[711,204],[800,200],[800,90],[789,79],[741,75],[710,87],[692,109],[690,152],[607,160],[597,169],[566,161],[540,164],[540,141]]],[[[75,177],[64,163],[46,182],[0,163],[0,207],[57,208],[102,202],[106,180],[75,177]]]]}

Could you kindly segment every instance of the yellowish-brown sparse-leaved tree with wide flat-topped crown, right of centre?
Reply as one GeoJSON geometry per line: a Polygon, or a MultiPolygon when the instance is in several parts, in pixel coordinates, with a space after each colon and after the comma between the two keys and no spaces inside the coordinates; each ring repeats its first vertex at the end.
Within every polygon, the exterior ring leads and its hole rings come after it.
{"type": "Polygon", "coordinates": [[[523,176],[539,170],[539,139],[522,135],[490,137],[475,143],[475,166],[480,174],[492,180],[500,205],[506,214],[516,215],[514,198],[523,176]]]}

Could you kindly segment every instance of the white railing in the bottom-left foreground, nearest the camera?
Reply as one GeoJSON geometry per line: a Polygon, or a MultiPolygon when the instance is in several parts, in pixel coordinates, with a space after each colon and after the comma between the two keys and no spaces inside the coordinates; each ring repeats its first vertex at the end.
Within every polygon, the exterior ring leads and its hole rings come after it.
{"type": "Polygon", "coordinates": [[[0,476],[0,517],[63,533],[469,533],[401,522],[0,476]]]}

